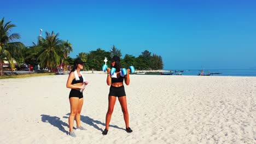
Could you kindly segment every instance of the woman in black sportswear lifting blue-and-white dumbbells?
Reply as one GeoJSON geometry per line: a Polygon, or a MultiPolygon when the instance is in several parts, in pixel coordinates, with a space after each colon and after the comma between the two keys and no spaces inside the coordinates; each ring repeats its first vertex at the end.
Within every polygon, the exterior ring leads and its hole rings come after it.
{"type": "Polygon", "coordinates": [[[131,133],[132,130],[129,127],[129,113],[127,110],[127,103],[126,103],[126,94],[125,94],[125,88],[123,85],[123,81],[125,81],[126,85],[130,84],[130,69],[127,69],[127,75],[121,76],[121,63],[120,58],[118,56],[113,56],[111,61],[112,68],[115,68],[115,74],[110,75],[110,69],[107,68],[107,85],[111,85],[109,88],[109,94],[108,94],[108,111],[106,115],[106,128],[104,131],[102,131],[103,135],[108,134],[108,128],[109,128],[109,122],[114,110],[115,101],[119,100],[119,103],[121,105],[121,109],[124,113],[124,121],[126,126],[127,133],[131,133]]]}

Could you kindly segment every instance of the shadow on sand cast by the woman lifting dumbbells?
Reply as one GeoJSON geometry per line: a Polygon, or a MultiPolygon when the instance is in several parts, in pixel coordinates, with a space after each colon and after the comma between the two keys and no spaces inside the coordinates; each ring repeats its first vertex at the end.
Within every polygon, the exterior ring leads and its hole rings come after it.
{"type": "MultiPolygon", "coordinates": [[[[70,115],[70,113],[67,113],[67,116],[69,116],[69,115],[70,115]]],[[[65,116],[65,117],[63,117],[63,118],[68,118],[68,117],[65,116]]],[[[88,117],[88,116],[82,116],[82,115],[81,115],[81,121],[84,122],[84,123],[86,123],[86,124],[88,124],[88,125],[91,125],[91,126],[94,127],[95,129],[100,130],[100,131],[103,131],[103,129],[99,128],[97,124],[101,124],[101,125],[103,125],[104,127],[106,126],[105,123],[102,123],[102,122],[100,122],[100,121],[94,120],[93,118],[90,118],[90,117],[88,117]]],[[[120,127],[118,127],[117,125],[109,125],[109,127],[113,127],[113,128],[125,130],[124,128],[120,128],[120,127]]]]}

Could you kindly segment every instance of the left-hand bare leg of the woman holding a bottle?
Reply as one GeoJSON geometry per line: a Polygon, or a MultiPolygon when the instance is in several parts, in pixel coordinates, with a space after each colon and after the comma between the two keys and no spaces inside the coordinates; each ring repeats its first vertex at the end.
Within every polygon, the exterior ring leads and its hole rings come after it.
{"type": "Polygon", "coordinates": [[[71,97],[69,98],[69,103],[70,103],[71,112],[68,118],[68,125],[69,125],[69,131],[73,131],[74,117],[78,110],[79,98],[71,97]]]}

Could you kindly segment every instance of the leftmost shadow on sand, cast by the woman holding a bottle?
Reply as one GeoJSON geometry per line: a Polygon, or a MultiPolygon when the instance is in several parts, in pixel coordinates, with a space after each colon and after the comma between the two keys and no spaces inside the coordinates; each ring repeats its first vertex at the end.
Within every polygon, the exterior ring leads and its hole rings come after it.
{"type": "Polygon", "coordinates": [[[62,122],[59,117],[56,116],[49,116],[49,115],[41,115],[42,116],[42,122],[44,123],[50,123],[54,127],[58,128],[63,133],[68,134],[68,131],[64,129],[64,127],[68,127],[68,124],[65,122],[62,122]]]}

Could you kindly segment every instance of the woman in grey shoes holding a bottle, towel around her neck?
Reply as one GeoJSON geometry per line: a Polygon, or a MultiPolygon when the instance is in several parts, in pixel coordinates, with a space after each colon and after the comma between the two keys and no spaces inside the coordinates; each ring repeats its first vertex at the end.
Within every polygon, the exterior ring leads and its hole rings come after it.
{"type": "Polygon", "coordinates": [[[69,103],[71,112],[68,118],[69,133],[68,135],[76,137],[73,131],[74,118],[77,122],[77,128],[75,130],[84,130],[80,122],[80,112],[84,103],[83,90],[88,82],[85,81],[84,76],[80,73],[80,70],[84,68],[84,63],[80,58],[74,60],[74,66],[69,73],[67,80],[67,88],[71,88],[69,93],[69,103]]]}

